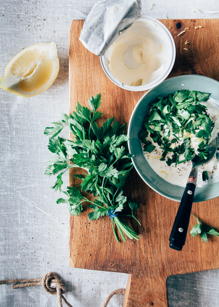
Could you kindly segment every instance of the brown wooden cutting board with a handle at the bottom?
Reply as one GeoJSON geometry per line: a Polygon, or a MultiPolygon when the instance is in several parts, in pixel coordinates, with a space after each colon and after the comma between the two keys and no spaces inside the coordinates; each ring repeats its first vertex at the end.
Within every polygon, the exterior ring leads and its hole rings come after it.
{"type": "MultiPolygon", "coordinates": [[[[176,62],[169,75],[201,74],[219,80],[219,19],[160,20],[170,32],[176,44],[176,62]],[[181,23],[180,29],[176,28],[181,23]],[[201,28],[195,29],[195,26],[201,28]],[[177,36],[185,27],[182,35],[177,36]],[[185,41],[190,43],[185,45],[185,41]],[[183,48],[188,48],[184,50],[183,48]]],[[[99,111],[103,116],[97,124],[115,116],[120,123],[128,123],[134,106],[145,93],[123,90],[112,83],[101,68],[98,56],[90,53],[78,40],[83,20],[73,20],[70,27],[69,93],[71,113],[79,101],[88,106],[91,95],[102,94],[99,111]]],[[[176,89],[177,90],[177,89],[176,89]]],[[[70,170],[70,186],[78,186],[73,177],[81,170],[70,170]]],[[[83,194],[83,193],[82,193],[83,194]]],[[[108,217],[88,221],[91,211],[84,205],[81,216],[70,216],[70,265],[77,268],[129,273],[124,305],[167,306],[166,278],[219,268],[219,238],[209,236],[207,243],[189,234],[196,221],[191,217],[188,236],[182,251],[169,247],[169,235],[179,206],[153,191],[138,176],[135,169],[125,188],[128,199],[141,204],[135,213],[142,226],[130,220],[134,230],[142,238],[138,241],[120,242],[114,239],[108,217]]],[[[87,195],[92,199],[91,195],[87,195]]],[[[92,199],[93,200],[93,199],[92,199]]],[[[219,229],[219,198],[194,203],[192,213],[207,225],[219,229]]]]}

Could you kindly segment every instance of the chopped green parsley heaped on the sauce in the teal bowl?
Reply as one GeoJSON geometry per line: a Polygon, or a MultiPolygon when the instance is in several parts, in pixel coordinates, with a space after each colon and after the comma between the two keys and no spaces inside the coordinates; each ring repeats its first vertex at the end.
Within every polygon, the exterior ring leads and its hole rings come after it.
{"type": "MultiPolygon", "coordinates": [[[[198,157],[208,158],[208,144],[214,123],[209,118],[207,108],[200,102],[209,99],[209,94],[195,90],[180,90],[174,95],[169,94],[167,98],[157,96],[157,102],[151,103],[150,113],[145,117],[142,124],[142,132],[139,137],[144,145],[144,151],[151,153],[156,146],[147,140],[150,137],[163,149],[161,161],[165,161],[167,154],[173,153],[167,158],[168,166],[189,161],[195,157],[194,149],[190,147],[190,137],[184,138],[184,132],[193,134],[195,137],[202,137],[203,141],[197,149],[198,157]],[[171,139],[169,138],[171,136],[171,139]],[[183,142],[182,142],[183,141],[183,142]],[[175,147],[172,148],[171,145],[175,147]],[[178,145],[179,144],[179,145],[178,145]],[[184,155],[184,159],[181,159],[184,155]]],[[[207,179],[207,176],[206,176],[207,179]]]]}

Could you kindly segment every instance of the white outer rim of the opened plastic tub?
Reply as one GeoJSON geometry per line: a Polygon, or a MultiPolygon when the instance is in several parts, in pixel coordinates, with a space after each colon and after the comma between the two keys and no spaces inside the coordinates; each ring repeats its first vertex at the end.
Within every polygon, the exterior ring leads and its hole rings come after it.
{"type": "Polygon", "coordinates": [[[131,86],[131,85],[126,85],[126,84],[123,84],[122,82],[118,81],[117,78],[115,78],[113,76],[113,74],[109,71],[107,65],[106,65],[106,62],[105,62],[105,57],[104,55],[101,55],[100,56],[100,62],[101,62],[101,66],[102,66],[102,69],[103,71],[105,72],[105,74],[107,75],[107,77],[114,83],[116,84],[117,86],[125,89],[125,90],[130,90],[130,91],[133,91],[133,92],[139,92],[139,91],[143,91],[143,90],[149,90],[151,88],[154,88],[155,86],[159,85],[161,82],[163,82],[163,80],[165,80],[167,78],[167,76],[169,75],[169,73],[171,72],[172,68],[173,68],[173,65],[175,63],[175,59],[176,59],[176,45],[175,45],[175,42],[174,42],[174,39],[173,39],[173,36],[172,34],[170,33],[170,31],[167,29],[167,27],[162,23],[160,22],[158,19],[155,19],[153,17],[149,17],[149,16],[146,16],[146,15],[140,15],[138,17],[138,19],[136,19],[135,21],[139,20],[140,18],[143,18],[143,19],[146,19],[146,20],[149,20],[149,21],[152,21],[152,22],[156,22],[158,23],[162,28],[163,30],[166,32],[167,36],[169,37],[170,41],[171,41],[171,55],[172,55],[172,58],[171,58],[171,62],[170,62],[170,65],[168,66],[168,69],[166,70],[165,74],[163,75],[163,77],[161,79],[159,79],[158,81],[156,82],[150,82],[150,83],[146,83],[144,85],[140,85],[140,86],[131,86]]]}

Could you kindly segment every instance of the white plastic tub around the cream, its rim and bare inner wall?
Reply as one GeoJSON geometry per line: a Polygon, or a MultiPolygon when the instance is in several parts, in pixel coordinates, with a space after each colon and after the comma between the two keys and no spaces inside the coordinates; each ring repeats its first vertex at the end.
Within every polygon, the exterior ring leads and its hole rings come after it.
{"type": "MultiPolygon", "coordinates": [[[[164,79],[167,78],[168,74],[171,72],[171,69],[173,67],[173,64],[175,62],[176,57],[176,47],[173,40],[173,37],[170,33],[170,31],[167,29],[167,27],[164,26],[163,23],[161,23],[159,20],[154,19],[152,17],[148,17],[145,15],[141,15],[133,24],[132,26],[134,28],[143,28],[146,32],[150,31],[150,34],[148,34],[148,37],[156,37],[156,33],[159,33],[162,35],[163,40],[165,41],[166,48],[168,50],[167,52],[167,59],[164,63],[164,70],[162,73],[159,73],[158,76],[151,82],[143,84],[141,86],[130,86],[127,84],[124,84],[120,82],[117,78],[114,77],[114,75],[111,73],[111,71],[108,69],[106,63],[109,61],[108,57],[112,53],[112,46],[109,47],[109,49],[105,52],[104,55],[100,57],[102,68],[107,75],[107,77],[116,85],[119,87],[124,88],[125,90],[131,90],[131,91],[141,91],[141,90],[149,90],[150,88],[158,85],[160,82],[162,82],[164,79]]],[[[116,44],[120,40],[120,37],[117,38],[117,40],[114,42],[116,44]]],[[[155,39],[156,40],[156,39],[155,39]]],[[[164,51],[163,51],[164,52],[164,51]]]]}

